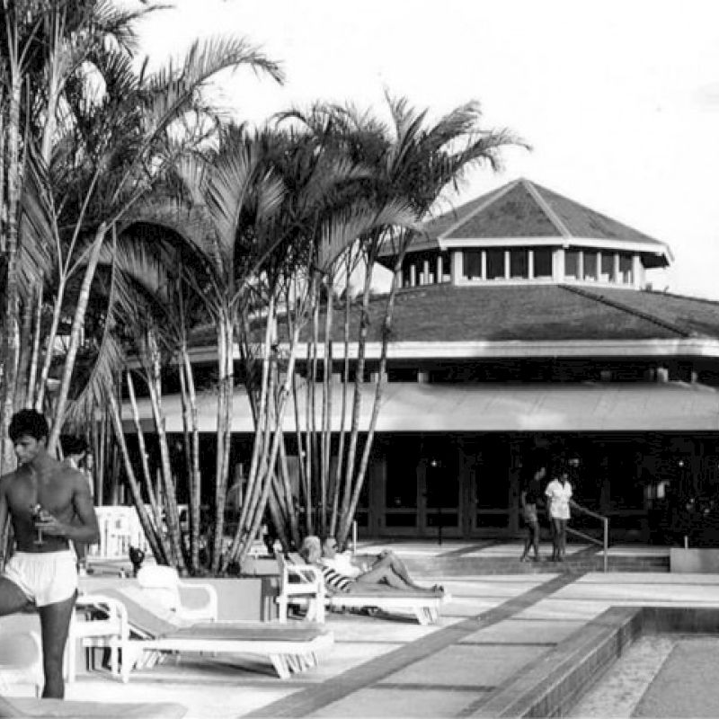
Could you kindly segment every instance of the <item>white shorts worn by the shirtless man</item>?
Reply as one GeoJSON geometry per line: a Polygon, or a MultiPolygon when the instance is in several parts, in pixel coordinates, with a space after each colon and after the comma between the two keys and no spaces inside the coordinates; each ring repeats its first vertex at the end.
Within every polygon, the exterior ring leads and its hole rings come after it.
{"type": "Polygon", "coordinates": [[[59,552],[15,552],[3,576],[17,584],[36,607],[57,604],[75,596],[77,558],[72,549],[59,552]]]}

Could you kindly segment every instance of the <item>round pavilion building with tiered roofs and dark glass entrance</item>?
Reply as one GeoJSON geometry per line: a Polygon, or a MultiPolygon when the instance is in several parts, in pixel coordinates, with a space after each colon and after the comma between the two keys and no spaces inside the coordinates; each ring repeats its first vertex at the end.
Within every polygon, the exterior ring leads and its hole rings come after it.
{"type": "MultiPolygon", "coordinates": [[[[614,537],[668,540],[679,505],[713,508],[719,303],[647,288],[666,244],[524,179],[424,230],[398,278],[360,534],[515,535],[537,452],[579,459],[575,496],[614,537]]],[[[200,421],[212,431],[211,401],[200,421]]]]}

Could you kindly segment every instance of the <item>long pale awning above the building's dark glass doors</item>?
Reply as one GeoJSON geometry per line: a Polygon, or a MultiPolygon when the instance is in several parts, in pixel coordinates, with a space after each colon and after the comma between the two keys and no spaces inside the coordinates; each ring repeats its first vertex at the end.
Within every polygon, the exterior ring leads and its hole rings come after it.
{"type": "MultiPolygon", "coordinates": [[[[317,426],[321,394],[316,390],[317,426]]],[[[299,401],[305,422],[305,393],[299,401]]],[[[368,427],[374,386],[362,390],[360,427],[368,427]]],[[[340,426],[342,386],[333,385],[333,430],[340,426]]],[[[350,426],[351,393],[345,426],[350,426]]],[[[165,430],[182,431],[177,395],[164,397],[165,430]]],[[[150,405],[139,402],[146,431],[153,431],[150,405]]],[[[201,395],[200,431],[217,428],[217,395],[201,395]]],[[[125,427],[131,430],[129,408],[125,427]]],[[[295,429],[288,404],[285,431],[295,429]]],[[[235,391],[233,431],[252,432],[244,390],[235,391]]],[[[719,431],[719,392],[704,385],[678,382],[646,384],[584,383],[577,385],[432,385],[389,383],[383,386],[378,432],[424,431],[719,431]]]]}

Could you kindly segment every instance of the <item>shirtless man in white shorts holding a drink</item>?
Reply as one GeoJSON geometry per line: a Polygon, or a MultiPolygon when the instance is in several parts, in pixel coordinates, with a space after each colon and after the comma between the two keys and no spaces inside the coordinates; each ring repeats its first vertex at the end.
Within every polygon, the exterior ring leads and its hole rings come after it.
{"type": "Polygon", "coordinates": [[[0,477],[0,528],[9,515],[15,548],[0,576],[0,616],[37,607],[45,673],[42,696],[61,699],[62,659],[77,594],[70,541],[93,544],[100,532],[84,475],[48,454],[45,418],[21,410],[13,415],[8,434],[18,468],[0,477]]]}

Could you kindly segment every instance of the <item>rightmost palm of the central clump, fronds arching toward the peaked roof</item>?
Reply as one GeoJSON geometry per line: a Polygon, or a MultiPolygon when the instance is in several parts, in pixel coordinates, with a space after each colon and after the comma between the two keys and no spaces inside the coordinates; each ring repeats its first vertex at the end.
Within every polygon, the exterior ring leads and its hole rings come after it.
{"type": "MultiPolygon", "coordinates": [[[[496,169],[502,147],[517,144],[519,140],[510,132],[484,131],[479,127],[481,113],[475,102],[458,107],[434,123],[428,121],[428,111],[416,111],[404,99],[386,97],[390,122],[379,120],[371,113],[361,113],[352,106],[318,105],[310,113],[294,113],[306,127],[324,138],[333,132],[334,146],[353,160],[361,160],[374,168],[371,182],[362,186],[362,197],[368,205],[389,200],[404,201],[413,210],[417,221],[425,217],[448,186],[457,187],[467,171],[477,165],[488,164],[496,169]]],[[[392,314],[397,289],[396,277],[402,266],[404,254],[411,244],[416,230],[412,227],[376,226],[362,235],[359,253],[365,266],[364,292],[359,309],[359,334],[356,337],[358,356],[354,372],[351,399],[351,427],[345,437],[344,417],[348,406],[345,394],[349,389],[349,318],[350,295],[345,292],[345,371],[342,395],[342,419],[337,452],[336,470],[321,483],[327,496],[320,499],[323,515],[331,509],[331,517],[320,519],[321,528],[337,534],[344,541],[351,529],[351,521],[357,510],[359,494],[364,483],[372,439],[382,396],[382,377],[386,370],[386,351],[392,329],[392,314]],[[372,273],[377,254],[384,242],[395,244],[395,277],[384,310],[382,348],[377,368],[377,380],[368,431],[359,454],[359,414],[361,409],[361,385],[365,370],[365,347],[368,334],[369,297],[372,273]],[[359,454],[359,456],[358,456],[359,454]]],[[[351,266],[351,261],[347,261],[351,266]]],[[[331,295],[329,296],[331,297],[331,295]]],[[[331,332],[331,301],[327,299],[325,337],[331,332]]],[[[329,358],[324,354],[325,377],[329,358]]],[[[326,383],[324,385],[326,387],[326,383]]],[[[328,390],[325,389],[325,392],[328,390]]],[[[323,426],[324,433],[329,431],[323,426]]],[[[325,439],[324,447],[329,447],[325,439]]],[[[326,450],[325,450],[326,451],[326,450]]],[[[329,471],[326,456],[319,462],[324,474],[329,471]]]]}

